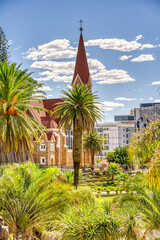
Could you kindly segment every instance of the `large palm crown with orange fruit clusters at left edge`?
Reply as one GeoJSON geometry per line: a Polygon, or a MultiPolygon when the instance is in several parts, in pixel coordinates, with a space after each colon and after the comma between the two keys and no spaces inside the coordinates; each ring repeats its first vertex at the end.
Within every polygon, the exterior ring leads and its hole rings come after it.
{"type": "Polygon", "coordinates": [[[32,137],[39,141],[38,132],[43,134],[44,129],[26,114],[29,108],[41,109],[30,104],[40,101],[40,85],[30,77],[31,73],[19,68],[15,63],[0,63],[0,152],[5,160],[29,154],[33,150],[32,137]]]}

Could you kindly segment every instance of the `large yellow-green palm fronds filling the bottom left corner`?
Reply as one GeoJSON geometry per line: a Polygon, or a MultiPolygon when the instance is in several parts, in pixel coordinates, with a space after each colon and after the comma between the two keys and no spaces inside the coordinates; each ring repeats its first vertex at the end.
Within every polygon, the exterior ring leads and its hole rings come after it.
{"type": "Polygon", "coordinates": [[[0,214],[14,239],[36,237],[71,201],[71,187],[35,164],[8,165],[0,181],[0,214]]]}

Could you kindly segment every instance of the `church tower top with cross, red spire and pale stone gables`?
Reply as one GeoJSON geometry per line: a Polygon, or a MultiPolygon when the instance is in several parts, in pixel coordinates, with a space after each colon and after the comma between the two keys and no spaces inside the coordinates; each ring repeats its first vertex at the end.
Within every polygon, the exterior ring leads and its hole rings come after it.
{"type": "MultiPolygon", "coordinates": [[[[80,21],[82,24],[82,21],[80,21]]],[[[89,73],[89,67],[86,57],[86,51],[84,47],[83,35],[82,35],[83,28],[80,27],[80,38],[79,38],[79,45],[78,45],[78,52],[77,52],[77,59],[74,69],[74,75],[72,80],[72,86],[74,84],[81,85],[82,83],[85,84],[87,87],[92,87],[92,80],[89,73]]]]}

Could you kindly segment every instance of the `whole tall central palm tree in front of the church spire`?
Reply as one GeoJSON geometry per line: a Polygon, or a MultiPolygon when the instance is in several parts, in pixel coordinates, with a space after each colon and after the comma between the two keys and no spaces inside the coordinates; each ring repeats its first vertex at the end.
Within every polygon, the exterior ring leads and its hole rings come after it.
{"type": "Polygon", "coordinates": [[[62,93],[65,95],[63,102],[57,104],[53,114],[55,118],[61,117],[60,127],[73,127],[74,185],[77,188],[83,131],[94,127],[95,121],[101,119],[101,112],[97,106],[97,95],[90,88],[86,89],[84,84],[75,84],[72,90],[68,88],[68,92],[62,93]]]}

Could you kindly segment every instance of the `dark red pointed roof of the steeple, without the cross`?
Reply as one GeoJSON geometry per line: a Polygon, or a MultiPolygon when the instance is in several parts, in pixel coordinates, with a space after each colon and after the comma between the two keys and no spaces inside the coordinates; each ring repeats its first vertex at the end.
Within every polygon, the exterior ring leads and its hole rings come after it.
{"type": "Polygon", "coordinates": [[[88,68],[88,63],[87,63],[87,57],[86,57],[86,51],[85,51],[85,47],[84,47],[82,31],[81,31],[80,39],[79,39],[77,59],[76,59],[76,64],[75,64],[75,69],[74,69],[72,85],[73,85],[77,75],[79,75],[82,83],[86,84],[88,82],[90,74],[89,74],[89,68],[88,68]]]}

